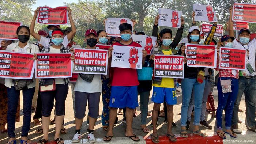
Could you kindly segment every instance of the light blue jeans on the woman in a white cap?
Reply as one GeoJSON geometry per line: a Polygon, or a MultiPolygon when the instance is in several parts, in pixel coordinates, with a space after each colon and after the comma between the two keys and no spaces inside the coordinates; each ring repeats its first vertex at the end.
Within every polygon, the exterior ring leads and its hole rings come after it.
{"type": "Polygon", "coordinates": [[[181,81],[181,89],[182,89],[181,126],[186,126],[188,106],[189,106],[192,90],[195,95],[194,125],[199,125],[204,85],[205,85],[205,81],[203,81],[202,84],[199,84],[196,79],[189,79],[189,78],[182,79],[181,81]]]}

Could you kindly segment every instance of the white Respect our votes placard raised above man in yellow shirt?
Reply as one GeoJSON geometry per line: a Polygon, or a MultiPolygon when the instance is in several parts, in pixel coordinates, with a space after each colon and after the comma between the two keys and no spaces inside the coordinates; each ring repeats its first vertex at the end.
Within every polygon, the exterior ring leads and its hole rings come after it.
{"type": "Polygon", "coordinates": [[[180,28],[182,11],[159,8],[159,14],[158,26],[180,28]]]}

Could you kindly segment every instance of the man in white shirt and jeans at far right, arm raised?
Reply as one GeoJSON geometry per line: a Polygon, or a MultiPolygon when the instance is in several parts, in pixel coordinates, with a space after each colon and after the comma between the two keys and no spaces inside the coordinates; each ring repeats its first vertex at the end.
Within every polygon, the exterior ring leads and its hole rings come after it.
{"type": "MultiPolygon", "coordinates": [[[[229,19],[232,18],[233,8],[229,9],[229,19]]],[[[233,21],[229,20],[229,35],[234,37],[233,21]]],[[[255,79],[255,50],[256,50],[256,39],[250,41],[250,30],[241,29],[239,31],[239,42],[234,39],[233,48],[244,48],[247,51],[246,56],[246,71],[239,71],[239,82],[238,82],[238,94],[236,102],[234,103],[232,126],[231,130],[234,133],[242,133],[238,128],[238,110],[241,97],[245,96],[246,106],[246,122],[248,124],[248,130],[256,132],[256,121],[255,121],[255,93],[256,93],[256,79],[255,79]]]]}

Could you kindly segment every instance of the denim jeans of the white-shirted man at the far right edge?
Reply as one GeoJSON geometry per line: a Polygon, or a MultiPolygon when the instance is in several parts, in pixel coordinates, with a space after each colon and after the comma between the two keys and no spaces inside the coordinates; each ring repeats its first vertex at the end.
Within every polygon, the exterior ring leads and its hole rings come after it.
{"type": "Polygon", "coordinates": [[[241,101],[241,97],[245,95],[245,106],[246,106],[246,122],[249,127],[256,125],[255,121],[255,94],[256,94],[256,79],[246,79],[245,77],[239,77],[238,82],[238,94],[234,104],[232,125],[238,124],[238,109],[241,101]]]}

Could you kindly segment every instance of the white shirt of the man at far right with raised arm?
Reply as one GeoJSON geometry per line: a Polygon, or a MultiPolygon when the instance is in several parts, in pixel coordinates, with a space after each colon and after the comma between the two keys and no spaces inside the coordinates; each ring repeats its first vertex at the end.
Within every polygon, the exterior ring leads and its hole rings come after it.
{"type": "MultiPolygon", "coordinates": [[[[252,41],[250,41],[247,45],[244,45],[245,49],[249,49],[249,60],[248,57],[246,56],[246,64],[250,63],[252,68],[255,71],[255,50],[256,50],[256,40],[255,38],[253,38],[252,41]]],[[[239,48],[239,49],[244,49],[244,47],[242,46],[242,44],[240,42],[238,42],[236,39],[233,41],[233,48],[239,48]]],[[[232,72],[233,73],[233,72],[232,72]]],[[[250,73],[247,69],[246,69],[246,75],[248,76],[254,76],[256,73],[250,73]]]]}

